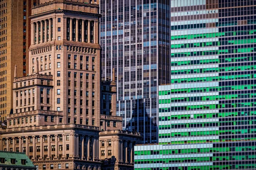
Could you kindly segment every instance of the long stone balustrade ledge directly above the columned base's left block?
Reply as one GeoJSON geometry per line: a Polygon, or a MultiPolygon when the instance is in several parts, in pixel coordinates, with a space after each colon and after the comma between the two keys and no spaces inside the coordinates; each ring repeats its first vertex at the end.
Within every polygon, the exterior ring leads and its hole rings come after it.
{"type": "Polygon", "coordinates": [[[2,128],[2,133],[7,132],[17,132],[21,130],[54,130],[58,128],[83,128],[83,129],[90,129],[90,130],[99,130],[99,127],[96,126],[87,126],[87,125],[76,125],[76,124],[70,124],[70,125],[48,125],[48,126],[26,126],[26,127],[13,127],[13,128],[2,128]]]}

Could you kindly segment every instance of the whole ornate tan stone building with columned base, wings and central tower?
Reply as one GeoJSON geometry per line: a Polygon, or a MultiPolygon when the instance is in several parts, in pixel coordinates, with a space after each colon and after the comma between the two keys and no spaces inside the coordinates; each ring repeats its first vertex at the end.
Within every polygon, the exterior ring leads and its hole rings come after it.
{"type": "Polygon", "coordinates": [[[18,77],[15,67],[14,113],[0,127],[0,150],[26,153],[38,170],[132,169],[140,135],[120,131],[116,84],[100,80],[99,17],[98,0],[40,0],[32,7],[29,75],[18,77]],[[115,151],[117,160],[106,165],[99,136],[127,141],[115,148],[125,150],[125,161],[115,151]]]}

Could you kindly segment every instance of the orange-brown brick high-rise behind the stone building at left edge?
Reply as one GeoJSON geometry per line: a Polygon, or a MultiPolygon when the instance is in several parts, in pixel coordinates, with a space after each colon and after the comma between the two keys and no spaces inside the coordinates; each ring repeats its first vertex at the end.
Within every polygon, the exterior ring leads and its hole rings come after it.
{"type": "Polygon", "coordinates": [[[38,0],[0,2],[0,120],[12,113],[14,66],[18,76],[26,76],[30,45],[31,7],[38,0]]]}

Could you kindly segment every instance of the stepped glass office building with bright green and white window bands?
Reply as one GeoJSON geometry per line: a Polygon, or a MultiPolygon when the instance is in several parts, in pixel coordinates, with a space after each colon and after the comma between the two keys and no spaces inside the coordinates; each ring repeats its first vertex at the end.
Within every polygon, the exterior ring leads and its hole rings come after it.
{"type": "Polygon", "coordinates": [[[254,170],[256,2],[173,0],[171,20],[160,145],[135,147],[135,170],[254,170]]]}

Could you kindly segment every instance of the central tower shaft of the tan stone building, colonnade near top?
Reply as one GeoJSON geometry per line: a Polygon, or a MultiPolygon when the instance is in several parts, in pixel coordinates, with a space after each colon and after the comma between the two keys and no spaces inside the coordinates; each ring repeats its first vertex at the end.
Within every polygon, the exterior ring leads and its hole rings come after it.
{"type": "Polygon", "coordinates": [[[64,123],[99,127],[99,5],[87,3],[41,0],[32,8],[29,74],[53,76],[52,109],[64,112],[64,123]]]}

